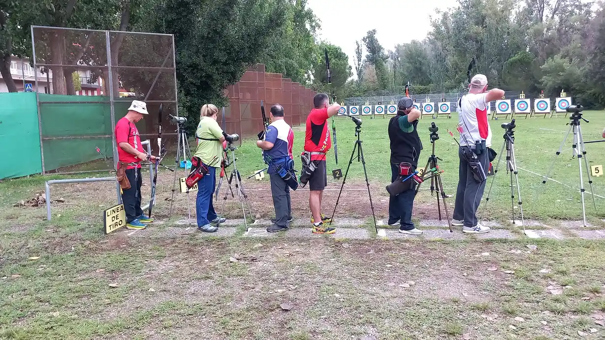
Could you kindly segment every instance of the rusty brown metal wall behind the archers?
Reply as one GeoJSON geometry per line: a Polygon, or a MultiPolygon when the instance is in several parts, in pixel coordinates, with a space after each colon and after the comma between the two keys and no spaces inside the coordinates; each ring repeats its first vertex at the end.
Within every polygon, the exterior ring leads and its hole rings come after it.
{"type": "Polygon", "coordinates": [[[284,107],[286,121],[292,126],[304,124],[313,107],[317,92],[307,89],[279,73],[267,73],[263,64],[249,68],[241,80],[227,88],[229,107],[226,107],[227,131],[243,137],[256,135],[263,130],[261,100],[269,118],[273,104],[284,107]]]}

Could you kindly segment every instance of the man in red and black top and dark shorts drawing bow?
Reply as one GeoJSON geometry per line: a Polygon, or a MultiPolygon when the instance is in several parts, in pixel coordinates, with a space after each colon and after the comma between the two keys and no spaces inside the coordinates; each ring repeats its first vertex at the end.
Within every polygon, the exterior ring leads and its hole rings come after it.
{"type": "Polygon", "coordinates": [[[311,223],[313,234],[333,234],[336,228],[324,226],[332,222],[330,217],[321,213],[321,200],[324,188],[328,184],[327,170],[325,168],[325,153],[332,147],[330,129],[327,120],[338,113],[340,105],[330,105],[327,94],[318,93],[313,97],[313,106],[306,123],[304,150],[310,153],[310,161],[316,161],[317,168],[309,177],[309,207],[311,208],[311,223]]]}

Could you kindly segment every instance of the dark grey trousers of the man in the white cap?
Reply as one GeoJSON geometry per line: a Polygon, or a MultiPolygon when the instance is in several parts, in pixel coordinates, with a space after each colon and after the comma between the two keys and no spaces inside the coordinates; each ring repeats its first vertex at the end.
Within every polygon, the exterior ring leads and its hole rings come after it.
{"type": "MultiPolygon", "coordinates": [[[[468,162],[462,156],[462,148],[468,150],[468,147],[463,146],[458,149],[458,158],[460,165],[458,168],[458,189],[456,190],[456,205],[454,206],[454,219],[463,221],[464,226],[473,227],[477,225],[477,209],[481,204],[483,191],[487,180],[477,182],[473,178],[468,162]]],[[[487,150],[481,155],[477,155],[479,161],[483,165],[483,171],[487,174],[489,170],[489,158],[487,150]]]]}

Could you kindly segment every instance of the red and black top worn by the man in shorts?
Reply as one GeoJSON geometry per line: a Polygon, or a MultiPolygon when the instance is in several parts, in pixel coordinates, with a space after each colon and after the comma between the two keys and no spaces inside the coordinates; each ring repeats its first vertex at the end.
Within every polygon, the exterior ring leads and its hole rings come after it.
{"type": "MultiPolygon", "coordinates": [[[[312,109],[307,117],[304,150],[308,152],[328,152],[332,147],[328,129],[328,108],[312,109]]],[[[325,155],[311,155],[312,161],[325,161],[325,155]]]]}

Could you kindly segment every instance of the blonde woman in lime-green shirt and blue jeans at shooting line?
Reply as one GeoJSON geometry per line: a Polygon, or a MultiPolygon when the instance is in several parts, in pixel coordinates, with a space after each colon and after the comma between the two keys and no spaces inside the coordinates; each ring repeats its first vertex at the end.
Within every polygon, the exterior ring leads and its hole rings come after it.
{"type": "Polygon", "coordinates": [[[216,187],[216,170],[223,161],[223,129],[217,123],[218,108],[213,104],[204,104],[200,110],[200,123],[195,131],[197,150],[194,156],[208,166],[208,174],[197,182],[197,199],[195,211],[197,214],[197,228],[205,233],[214,233],[219,220],[225,219],[217,216],[212,205],[212,196],[216,187]]]}

